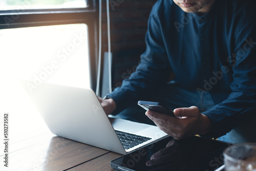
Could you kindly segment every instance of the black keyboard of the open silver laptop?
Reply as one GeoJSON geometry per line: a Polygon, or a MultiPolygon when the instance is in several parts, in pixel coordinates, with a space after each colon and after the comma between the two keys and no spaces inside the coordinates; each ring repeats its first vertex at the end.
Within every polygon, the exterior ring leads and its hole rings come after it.
{"type": "Polygon", "coordinates": [[[148,141],[152,138],[143,137],[135,134],[125,133],[121,131],[116,131],[118,138],[120,139],[124,149],[132,148],[136,145],[139,145],[145,141],[148,141]]]}

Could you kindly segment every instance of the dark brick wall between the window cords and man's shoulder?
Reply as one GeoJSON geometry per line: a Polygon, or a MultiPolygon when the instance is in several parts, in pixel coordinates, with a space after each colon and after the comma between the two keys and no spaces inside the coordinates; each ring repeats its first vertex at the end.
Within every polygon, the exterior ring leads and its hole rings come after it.
{"type": "MultiPolygon", "coordinates": [[[[135,71],[145,50],[147,19],[157,0],[110,0],[113,88],[135,71]]],[[[108,51],[106,4],[102,3],[102,53],[108,51]]]]}

